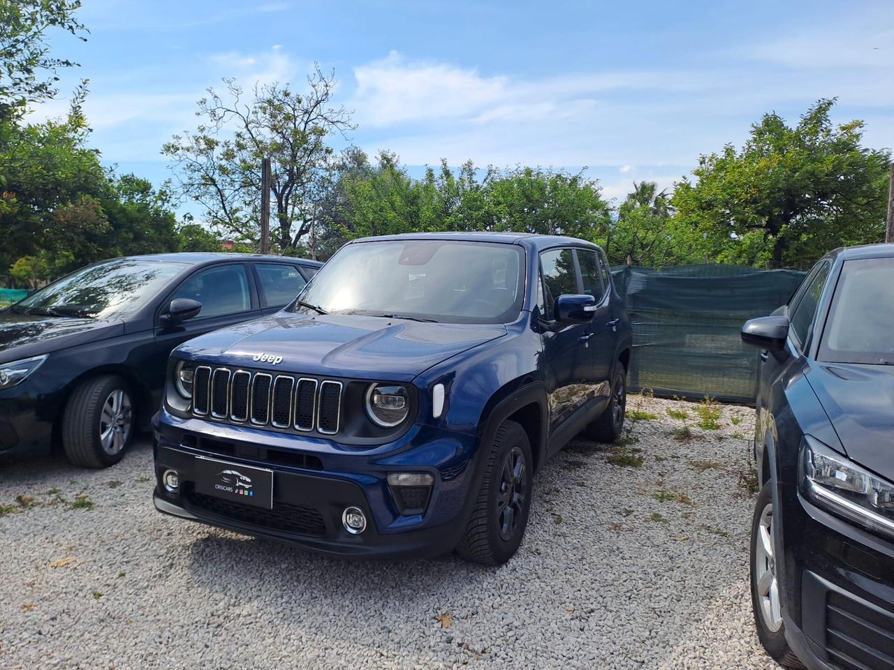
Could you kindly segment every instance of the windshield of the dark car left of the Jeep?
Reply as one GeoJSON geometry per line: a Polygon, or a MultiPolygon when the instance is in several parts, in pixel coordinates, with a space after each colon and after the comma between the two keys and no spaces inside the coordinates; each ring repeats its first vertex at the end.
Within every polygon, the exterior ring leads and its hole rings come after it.
{"type": "Polygon", "coordinates": [[[143,306],[187,264],[120,258],[72,272],[13,305],[19,314],[121,318],[143,306]]]}

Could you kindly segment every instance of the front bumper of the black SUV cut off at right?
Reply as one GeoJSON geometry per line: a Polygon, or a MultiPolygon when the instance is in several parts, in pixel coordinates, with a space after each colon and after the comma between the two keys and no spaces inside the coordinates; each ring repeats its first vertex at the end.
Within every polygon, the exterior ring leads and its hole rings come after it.
{"type": "Polygon", "coordinates": [[[894,543],[783,490],[789,646],[811,670],[894,670],[894,543]]]}

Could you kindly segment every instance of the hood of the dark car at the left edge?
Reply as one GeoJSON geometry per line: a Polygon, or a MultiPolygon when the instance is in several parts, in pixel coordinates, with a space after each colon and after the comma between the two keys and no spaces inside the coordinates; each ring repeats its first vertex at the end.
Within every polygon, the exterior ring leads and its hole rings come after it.
{"type": "Polygon", "coordinates": [[[123,331],[120,322],[0,311],[0,363],[48,354],[123,331]]]}

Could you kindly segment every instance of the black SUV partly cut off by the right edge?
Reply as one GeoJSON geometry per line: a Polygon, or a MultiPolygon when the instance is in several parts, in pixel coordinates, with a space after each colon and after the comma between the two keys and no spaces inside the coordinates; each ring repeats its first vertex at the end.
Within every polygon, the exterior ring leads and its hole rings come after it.
{"type": "Polygon", "coordinates": [[[838,249],[763,349],[751,590],[784,666],[894,668],[894,245],[838,249]]]}

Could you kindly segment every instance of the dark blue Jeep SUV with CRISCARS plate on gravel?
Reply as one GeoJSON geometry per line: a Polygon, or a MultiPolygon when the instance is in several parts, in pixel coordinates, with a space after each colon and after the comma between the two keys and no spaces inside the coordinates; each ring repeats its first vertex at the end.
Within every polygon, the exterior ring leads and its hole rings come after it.
{"type": "Polygon", "coordinates": [[[532,477],[624,421],[630,329],[580,239],[349,243],[283,311],[174,350],[156,507],[346,556],[518,549],[532,477]]]}

